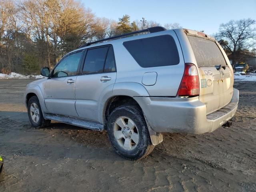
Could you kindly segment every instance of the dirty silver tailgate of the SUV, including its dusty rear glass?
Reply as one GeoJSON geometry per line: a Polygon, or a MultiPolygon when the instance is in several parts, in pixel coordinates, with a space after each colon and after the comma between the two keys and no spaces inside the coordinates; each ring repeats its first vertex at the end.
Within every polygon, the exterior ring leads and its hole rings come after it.
{"type": "Polygon", "coordinates": [[[199,100],[210,114],[228,104],[233,95],[233,70],[226,64],[215,41],[188,35],[200,80],[199,100]]]}

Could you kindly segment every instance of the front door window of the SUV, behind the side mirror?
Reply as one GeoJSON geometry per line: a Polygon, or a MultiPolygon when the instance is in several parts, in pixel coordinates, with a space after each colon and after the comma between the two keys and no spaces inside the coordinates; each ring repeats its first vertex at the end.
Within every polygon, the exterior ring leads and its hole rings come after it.
{"type": "Polygon", "coordinates": [[[78,52],[66,56],[60,61],[53,72],[54,77],[65,77],[77,75],[78,65],[83,52],[78,52]]]}

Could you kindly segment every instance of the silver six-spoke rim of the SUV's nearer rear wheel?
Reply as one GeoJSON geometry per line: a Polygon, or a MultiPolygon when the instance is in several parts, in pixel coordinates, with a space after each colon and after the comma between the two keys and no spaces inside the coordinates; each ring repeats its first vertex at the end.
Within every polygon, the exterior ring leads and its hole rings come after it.
{"type": "Polygon", "coordinates": [[[128,117],[120,117],[116,120],[114,136],[118,144],[125,150],[133,150],[139,142],[138,128],[128,117]]]}

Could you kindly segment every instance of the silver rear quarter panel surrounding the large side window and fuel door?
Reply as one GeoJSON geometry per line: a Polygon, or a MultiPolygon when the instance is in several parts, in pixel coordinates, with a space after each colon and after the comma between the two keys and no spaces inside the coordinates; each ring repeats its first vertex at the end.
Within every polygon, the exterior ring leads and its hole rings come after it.
{"type": "MultiPolygon", "coordinates": [[[[184,72],[184,58],[179,40],[173,30],[163,32],[156,32],[146,35],[138,35],[132,38],[125,38],[125,40],[117,40],[113,42],[114,54],[116,58],[117,76],[116,83],[120,82],[136,82],[144,86],[149,96],[176,96],[180,82],[184,72]],[[171,35],[178,48],[180,56],[180,63],[172,66],[159,66],[142,68],[132,55],[126,50],[123,45],[124,41],[135,40],[140,38],[148,38],[158,35],[171,35]],[[121,41],[121,42],[120,42],[121,41]],[[142,84],[142,77],[146,72],[156,72],[157,78],[154,85],[146,86],[142,84]]],[[[115,88],[115,87],[114,87],[115,88]]],[[[148,96],[141,95],[141,96],[148,96]]]]}

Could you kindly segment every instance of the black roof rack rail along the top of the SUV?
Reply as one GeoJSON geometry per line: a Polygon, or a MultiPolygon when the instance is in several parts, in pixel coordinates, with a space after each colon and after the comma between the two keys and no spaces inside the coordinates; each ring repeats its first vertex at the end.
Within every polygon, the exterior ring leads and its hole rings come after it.
{"type": "Polygon", "coordinates": [[[109,38],[105,38],[105,39],[101,39],[101,40],[97,40],[97,41],[92,41],[92,42],[83,44],[79,48],[86,47],[86,46],[96,44],[96,43],[99,43],[99,42],[104,42],[104,41],[108,41],[108,40],[112,40],[112,39],[122,38],[122,37],[132,35],[132,34],[137,34],[137,33],[142,33],[142,32],[155,33],[155,32],[160,32],[160,31],[165,31],[165,30],[166,30],[166,28],[160,27],[160,26],[150,27],[150,28],[147,28],[147,29],[139,30],[139,31],[134,31],[134,32],[125,33],[125,34],[122,34],[122,35],[117,35],[117,36],[113,36],[113,37],[109,37],[109,38]]]}

